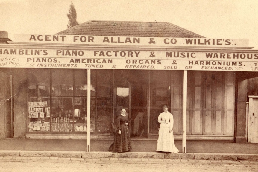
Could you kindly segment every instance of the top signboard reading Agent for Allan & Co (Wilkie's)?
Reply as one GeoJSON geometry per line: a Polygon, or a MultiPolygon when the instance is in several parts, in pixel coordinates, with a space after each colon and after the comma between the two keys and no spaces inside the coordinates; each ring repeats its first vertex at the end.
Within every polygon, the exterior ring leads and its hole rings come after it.
{"type": "Polygon", "coordinates": [[[247,48],[248,39],[208,39],[169,37],[125,37],[88,35],[39,35],[16,34],[13,42],[31,44],[117,45],[117,46],[164,46],[164,47],[213,47],[247,48]]]}

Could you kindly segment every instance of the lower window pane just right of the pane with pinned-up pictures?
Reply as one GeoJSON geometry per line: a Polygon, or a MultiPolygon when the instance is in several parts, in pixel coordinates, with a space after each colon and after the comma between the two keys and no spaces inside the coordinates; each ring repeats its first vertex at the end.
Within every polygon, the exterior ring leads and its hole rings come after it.
{"type": "Polygon", "coordinates": [[[72,97],[52,97],[52,131],[72,131],[72,97]]]}

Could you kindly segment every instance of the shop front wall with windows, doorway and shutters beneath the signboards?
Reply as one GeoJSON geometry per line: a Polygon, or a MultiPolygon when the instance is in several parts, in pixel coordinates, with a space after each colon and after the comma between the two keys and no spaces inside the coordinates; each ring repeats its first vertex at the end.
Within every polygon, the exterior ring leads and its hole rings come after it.
{"type": "MultiPolygon", "coordinates": [[[[18,70],[19,75],[12,76],[18,84],[14,89],[22,94],[21,102],[14,98],[14,109],[20,106],[22,118],[26,119],[22,124],[27,126],[26,131],[18,131],[22,137],[84,138],[88,120],[87,70],[18,70]]],[[[189,71],[187,80],[187,137],[233,140],[235,73],[189,71]]],[[[110,137],[112,122],[122,107],[131,119],[132,138],[156,138],[157,117],[163,105],[169,105],[174,134],[181,137],[183,71],[91,69],[90,87],[93,138],[110,137]]]]}

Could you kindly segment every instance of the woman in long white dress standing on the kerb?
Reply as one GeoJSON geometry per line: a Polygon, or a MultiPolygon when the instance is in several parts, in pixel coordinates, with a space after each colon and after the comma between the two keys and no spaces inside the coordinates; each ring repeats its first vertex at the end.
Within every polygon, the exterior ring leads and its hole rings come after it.
{"type": "Polygon", "coordinates": [[[163,111],[159,117],[160,123],[159,138],[157,143],[157,151],[178,153],[178,149],[174,144],[173,123],[174,118],[168,111],[168,106],[163,106],[163,111]]]}

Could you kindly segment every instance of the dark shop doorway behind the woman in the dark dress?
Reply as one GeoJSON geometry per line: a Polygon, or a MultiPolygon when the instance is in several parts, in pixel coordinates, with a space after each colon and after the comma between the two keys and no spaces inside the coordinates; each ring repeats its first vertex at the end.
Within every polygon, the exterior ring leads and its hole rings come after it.
{"type": "Polygon", "coordinates": [[[132,138],[148,137],[148,76],[148,71],[114,72],[114,119],[125,108],[132,138]]]}

